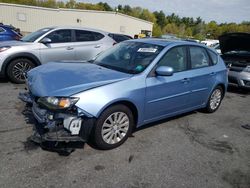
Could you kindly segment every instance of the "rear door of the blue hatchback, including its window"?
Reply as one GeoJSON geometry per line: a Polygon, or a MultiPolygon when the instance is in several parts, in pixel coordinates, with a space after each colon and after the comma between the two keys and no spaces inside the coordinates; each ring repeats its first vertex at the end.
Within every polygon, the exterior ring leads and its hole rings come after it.
{"type": "Polygon", "coordinates": [[[193,107],[206,103],[211,88],[215,84],[216,72],[207,50],[199,46],[189,46],[190,54],[190,101],[193,107]]]}

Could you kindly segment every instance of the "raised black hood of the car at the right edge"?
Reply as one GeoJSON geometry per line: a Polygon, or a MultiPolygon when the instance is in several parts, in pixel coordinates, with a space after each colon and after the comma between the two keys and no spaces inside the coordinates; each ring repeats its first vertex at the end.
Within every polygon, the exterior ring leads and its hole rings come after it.
{"type": "Polygon", "coordinates": [[[219,37],[222,54],[230,51],[250,51],[250,33],[228,33],[219,37]]]}

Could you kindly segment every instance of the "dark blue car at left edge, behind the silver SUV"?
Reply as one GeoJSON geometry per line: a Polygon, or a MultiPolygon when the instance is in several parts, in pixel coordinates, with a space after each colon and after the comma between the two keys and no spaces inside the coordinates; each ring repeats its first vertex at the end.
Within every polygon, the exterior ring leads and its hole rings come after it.
{"type": "Polygon", "coordinates": [[[2,41],[20,40],[21,38],[22,34],[19,29],[13,26],[0,24],[0,44],[2,41]]]}

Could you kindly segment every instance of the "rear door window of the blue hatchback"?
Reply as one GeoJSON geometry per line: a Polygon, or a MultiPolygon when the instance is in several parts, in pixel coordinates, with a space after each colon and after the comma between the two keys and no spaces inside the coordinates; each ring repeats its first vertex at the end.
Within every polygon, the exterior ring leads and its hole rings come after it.
{"type": "Polygon", "coordinates": [[[209,66],[209,57],[204,48],[190,46],[191,68],[202,68],[209,66]]]}

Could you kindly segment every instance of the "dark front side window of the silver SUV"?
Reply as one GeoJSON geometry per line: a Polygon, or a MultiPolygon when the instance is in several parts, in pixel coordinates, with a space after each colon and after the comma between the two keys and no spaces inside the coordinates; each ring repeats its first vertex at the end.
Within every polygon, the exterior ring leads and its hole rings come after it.
{"type": "Polygon", "coordinates": [[[71,30],[69,29],[62,29],[54,31],[46,36],[51,40],[51,43],[64,43],[64,42],[71,42],[71,30]]]}

